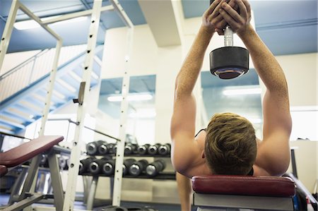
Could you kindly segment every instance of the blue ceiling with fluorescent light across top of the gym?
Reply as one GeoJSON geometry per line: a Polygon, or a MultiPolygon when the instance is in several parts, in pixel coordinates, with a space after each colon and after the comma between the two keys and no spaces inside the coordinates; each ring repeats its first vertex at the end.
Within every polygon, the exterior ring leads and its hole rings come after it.
{"type": "MultiPolygon", "coordinates": [[[[119,0],[134,25],[145,24],[143,2],[158,4],[159,0],[119,0]]],[[[40,18],[64,15],[93,8],[93,0],[20,0],[40,18]]],[[[163,2],[163,1],[161,1],[163,2]]],[[[148,3],[149,4],[149,3],[148,3]]],[[[182,0],[184,18],[199,17],[209,4],[208,0],[182,0]]],[[[254,11],[259,36],[273,54],[302,54],[317,52],[317,1],[316,0],[250,0],[254,11]]],[[[110,5],[102,1],[103,6],[110,5]]],[[[11,0],[0,1],[0,35],[8,18],[11,0]]],[[[23,11],[18,11],[17,20],[26,20],[23,11]]],[[[124,23],[115,11],[104,11],[100,18],[98,42],[104,42],[105,32],[110,28],[123,27],[124,23]]],[[[64,45],[87,42],[90,20],[79,23],[49,25],[63,40],[64,45]]],[[[41,28],[32,30],[13,29],[8,52],[45,49],[55,46],[54,38],[41,28]]]]}

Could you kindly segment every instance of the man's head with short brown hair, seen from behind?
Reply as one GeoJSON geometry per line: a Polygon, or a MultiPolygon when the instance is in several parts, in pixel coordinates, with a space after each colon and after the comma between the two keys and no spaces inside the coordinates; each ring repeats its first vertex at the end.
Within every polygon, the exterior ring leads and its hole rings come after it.
{"type": "Polygon", "coordinates": [[[237,114],[215,114],[206,128],[204,150],[213,174],[248,174],[257,155],[252,123],[237,114]]]}

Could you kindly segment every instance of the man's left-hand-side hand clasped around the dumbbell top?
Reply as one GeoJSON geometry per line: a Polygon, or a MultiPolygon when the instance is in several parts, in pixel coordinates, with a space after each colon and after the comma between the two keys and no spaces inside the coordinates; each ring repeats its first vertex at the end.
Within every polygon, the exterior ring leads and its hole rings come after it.
{"type": "Polygon", "coordinates": [[[202,26],[207,30],[207,32],[215,32],[217,31],[219,35],[223,35],[223,29],[228,23],[220,16],[220,9],[222,4],[225,3],[230,7],[237,9],[237,5],[235,4],[235,0],[215,0],[210,5],[210,7],[205,11],[202,16],[202,26]],[[228,2],[228,3],[226,3],[228,2]]]}

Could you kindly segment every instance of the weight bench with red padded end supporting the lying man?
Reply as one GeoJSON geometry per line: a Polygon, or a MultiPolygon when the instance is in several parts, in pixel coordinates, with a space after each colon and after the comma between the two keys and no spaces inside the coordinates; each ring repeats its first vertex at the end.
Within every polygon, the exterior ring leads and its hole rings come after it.
{"type": "Polygon", "coordinates": [[[294,210],[295,184],[280,176],[193,176],[193,204],[208,210],[294,210]]]}

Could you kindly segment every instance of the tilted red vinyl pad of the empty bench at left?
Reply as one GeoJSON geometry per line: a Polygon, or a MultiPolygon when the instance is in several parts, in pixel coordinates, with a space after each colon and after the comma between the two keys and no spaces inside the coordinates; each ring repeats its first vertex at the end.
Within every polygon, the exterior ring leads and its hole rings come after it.
{"type": "Polygon", "coordinates": [[[51,147],[63,140],[64,137],[60,135],[42,135],[39,138],[23,143],[18,147],[0,153],[0,165],[9,167],[16,167],[29,159],[40,155],[49,150],[51,147]]]}

